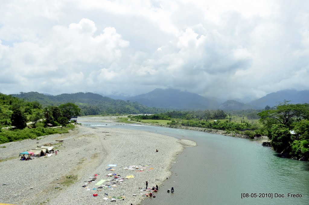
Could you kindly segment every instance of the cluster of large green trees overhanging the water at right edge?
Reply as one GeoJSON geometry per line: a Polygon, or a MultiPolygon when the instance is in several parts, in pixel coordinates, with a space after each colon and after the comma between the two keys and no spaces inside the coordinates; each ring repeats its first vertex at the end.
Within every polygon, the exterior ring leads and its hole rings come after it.
{"type": "Polygon", "coordinates": [[[258,115],[275,151],[284,157],[309,160],[309,104],[284,101],[258,115]]]}

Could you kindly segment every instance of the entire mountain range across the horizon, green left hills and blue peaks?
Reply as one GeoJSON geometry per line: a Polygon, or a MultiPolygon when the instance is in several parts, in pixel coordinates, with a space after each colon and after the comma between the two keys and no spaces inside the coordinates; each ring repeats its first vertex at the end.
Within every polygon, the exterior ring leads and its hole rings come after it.
{"type": "MultiPolygon", "coordinates": [[[[176,89],[155,89],[146,94],[133,97],[112,99],[94,93],[75,93],[49,95],[37,92],[12,94],[12,96],[26,99],[28,101],[38,101],[44,106],[59,105],[61,103],[73,102],[81,107],[86,115],[96,115],[102,113],[158,113],[166,110],[246,110],[263,109],[266,106],[273,107],[284,100],[293,104],[309,103],[309,90],[280,90],[267,94],[266,96],[248,103],[236,100],[225,100],[214,97],[203,97],[199,94],[180,91],[176,89]]],[[[116,97],[116,96],[115,96],[116,97]]]]}

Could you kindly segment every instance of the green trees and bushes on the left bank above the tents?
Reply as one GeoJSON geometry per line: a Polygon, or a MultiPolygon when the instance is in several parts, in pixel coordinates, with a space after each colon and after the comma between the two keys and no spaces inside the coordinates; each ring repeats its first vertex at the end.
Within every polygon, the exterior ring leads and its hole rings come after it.
{"type": "Polygon", "coordinates": [[[43,108],[36,101],[27,102],[0,93],[0,144],[68,132],[74,128],[68,124],[71,116],[79,112],[80,108],[73,103],[43,108]]]}

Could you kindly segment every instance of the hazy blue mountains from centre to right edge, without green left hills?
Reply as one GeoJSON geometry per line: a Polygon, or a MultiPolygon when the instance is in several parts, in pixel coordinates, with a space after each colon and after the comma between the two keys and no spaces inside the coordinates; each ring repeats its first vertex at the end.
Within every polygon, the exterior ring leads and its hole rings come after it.
{"type": "Polygon", "coordinates": [[[203,97],[201,95],[184,92],[176,89],[155,89],[146,94],[140,94],[127,98],[149,107],[163,107],[173,109],[222,109],[222,110],[246,110],[263,109],[267,105],[273,107],[284,100],[293,104],[309,103],[309,90],[280,90],[248,103],[236,100],[225,100],[215,97],[203,97]]]}

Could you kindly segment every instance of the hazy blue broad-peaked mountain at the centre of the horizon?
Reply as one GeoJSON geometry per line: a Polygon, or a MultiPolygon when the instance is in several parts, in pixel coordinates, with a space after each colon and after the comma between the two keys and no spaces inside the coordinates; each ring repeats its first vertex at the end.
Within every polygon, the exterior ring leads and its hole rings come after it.
{"type": "Polygon", "coordinates": [[[149,107],[162,107],[171,109],[216,109],[219,104],[211,98],[180,91],[176,89],[155,89],[149,93],[128,98],[149,107]]]}

